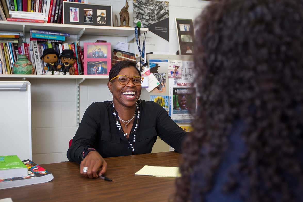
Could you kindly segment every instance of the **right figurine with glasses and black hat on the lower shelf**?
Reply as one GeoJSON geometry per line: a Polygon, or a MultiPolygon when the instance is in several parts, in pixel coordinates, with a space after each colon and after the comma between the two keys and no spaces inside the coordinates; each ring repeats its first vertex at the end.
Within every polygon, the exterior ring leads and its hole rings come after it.
{"type": "Polygon", "coordinates": [[[62,73],[65,75],[75,75],[73,64],[76,62],[77,58],[74,56],[74,51],[70,49],[63,50],[60,59],[63,64],[62,73]]]}

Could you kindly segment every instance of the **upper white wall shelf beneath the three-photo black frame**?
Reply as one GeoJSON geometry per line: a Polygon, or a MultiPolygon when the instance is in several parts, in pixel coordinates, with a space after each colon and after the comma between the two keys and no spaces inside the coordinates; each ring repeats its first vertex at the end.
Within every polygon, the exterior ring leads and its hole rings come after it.
{"type": "MultiPolygon", "coordinates": [[[[33,22],[12,22],[0,21],[0,30],[8,32],[30,32],[31,29],[49,30],[62,33],[79,34],[84,28],[83,34],[100,35],[100,36],[131,36],[135,33],[133,27],[112,27],[112,26],[95,26],[95,25],[69,25],[55,23],[33,23],[33,22]]],[[[148,28],[141,28],[141,34],[148,31],[148,28]]]]}

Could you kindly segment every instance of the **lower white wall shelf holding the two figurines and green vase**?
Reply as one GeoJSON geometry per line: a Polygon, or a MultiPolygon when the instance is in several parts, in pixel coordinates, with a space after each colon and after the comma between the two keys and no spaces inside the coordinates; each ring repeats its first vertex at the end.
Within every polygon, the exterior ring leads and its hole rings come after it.
{"type": "Polygon", "coordinates": [[[26,79],[108,79],[108,75],[36,75],[36,74],[0,74],[2,78],[26,79]]]}

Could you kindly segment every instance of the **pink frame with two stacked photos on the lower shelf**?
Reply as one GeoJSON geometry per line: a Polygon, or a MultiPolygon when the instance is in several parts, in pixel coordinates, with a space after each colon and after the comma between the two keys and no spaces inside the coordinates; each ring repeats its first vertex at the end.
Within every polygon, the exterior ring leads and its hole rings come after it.
{"type": "Polygon", "coordinates": [[[111,43],[83,43],[84,75],[108,75],[112,68],[111,43]]]}

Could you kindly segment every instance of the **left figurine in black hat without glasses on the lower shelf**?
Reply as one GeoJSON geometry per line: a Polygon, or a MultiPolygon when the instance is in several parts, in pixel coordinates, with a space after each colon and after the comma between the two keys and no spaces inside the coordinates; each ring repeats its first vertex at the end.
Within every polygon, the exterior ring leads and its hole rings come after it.
{"type": "Polygon", "coordinates": [[[44,49],[41,59],[43,62],[47,63],[43,68],[45,71],[48,70],[45,74],[47,75],[59,75],[61,65],[57,65],[59,54],[54,49],[44,49]]]}

